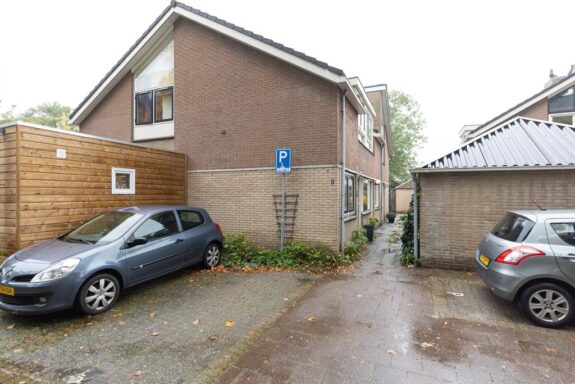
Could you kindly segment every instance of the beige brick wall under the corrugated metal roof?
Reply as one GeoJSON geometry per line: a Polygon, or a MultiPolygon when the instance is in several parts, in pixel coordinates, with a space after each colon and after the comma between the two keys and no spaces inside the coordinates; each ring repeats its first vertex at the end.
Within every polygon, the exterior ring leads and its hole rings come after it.
{"type": "Polygon", "coordinates": [[[420,175],[424,266],[471,269],[481,238],[513,209],[575,208],[575,171],[420,175]]]}

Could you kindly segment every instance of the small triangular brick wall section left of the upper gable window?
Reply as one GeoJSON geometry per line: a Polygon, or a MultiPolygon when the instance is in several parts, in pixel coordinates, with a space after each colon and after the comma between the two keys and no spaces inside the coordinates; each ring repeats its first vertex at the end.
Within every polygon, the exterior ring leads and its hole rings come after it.
{"type": "Polygon", "coordinates": [[[129,73],[82,121],[80,131],[109,139],[132,141],[132,84],[132,74],[129,73]]]}

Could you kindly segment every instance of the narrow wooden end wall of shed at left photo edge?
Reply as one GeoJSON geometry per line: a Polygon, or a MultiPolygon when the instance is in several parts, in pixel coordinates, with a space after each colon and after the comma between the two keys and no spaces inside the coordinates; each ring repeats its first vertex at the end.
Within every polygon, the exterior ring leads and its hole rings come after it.
{"type": "Polygon", "coordinates": [[[0,261],[16,249],[16,127],[0,135],[0,261]]]}

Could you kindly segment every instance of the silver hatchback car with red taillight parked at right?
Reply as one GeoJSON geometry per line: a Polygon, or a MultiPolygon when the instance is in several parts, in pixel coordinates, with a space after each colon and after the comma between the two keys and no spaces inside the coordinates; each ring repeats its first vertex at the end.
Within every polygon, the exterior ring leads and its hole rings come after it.
{"type": "Polygon", "coordinates": [[[511,211],[475,255],[491,291],[515,301],[535,324],[558,328],[575,316],[575,210],[511,211]]]}

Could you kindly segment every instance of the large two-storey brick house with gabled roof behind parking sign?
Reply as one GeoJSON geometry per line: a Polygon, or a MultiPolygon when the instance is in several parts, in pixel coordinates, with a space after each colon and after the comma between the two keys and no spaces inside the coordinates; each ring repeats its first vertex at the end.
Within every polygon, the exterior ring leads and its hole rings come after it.
{"type": "MultiPolygon", "coordinates": [[[[385,85],[174,2],[72,113],[83,133],[188,158],[188,203],[279,244],[275,149],[292,148],[288,235],[342,249],[387,212],[385,85]]],[[[162,181],[158,180],[158,186],[162,181]]]]}

